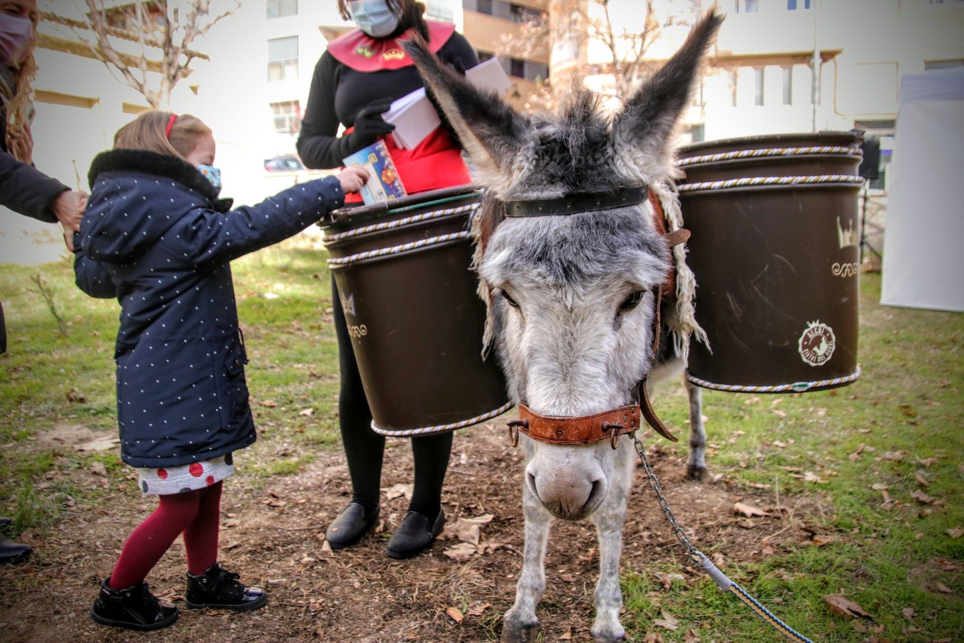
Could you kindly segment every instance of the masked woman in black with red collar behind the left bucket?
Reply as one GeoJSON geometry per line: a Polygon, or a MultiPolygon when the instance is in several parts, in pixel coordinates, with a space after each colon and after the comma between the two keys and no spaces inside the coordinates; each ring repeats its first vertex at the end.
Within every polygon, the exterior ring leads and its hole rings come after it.
{"type": "MultiPolygon", "coordinates": [[[[415,0],[337,1],[342,16],[354,19],[360,29],[330,42],[314,69],[298,139],[302,161],[308,168],[336,168],[345,157],[381,140],[409,194],[471,182],[447,127],[437,129],[415,149],[405,149],[394,145],[388,136],[394,125],[382,118],[392,100],[423,86],[397,38],[414,31],[442,61],[460,71],[478,65],[469,41],[455,33],[451,23],[426,21],[424,7],[415,0]],[[347,128],[342,136],[336,136],[339,123],[347,128]]],[[[334,278],[332,299],[341,367],[338,413],[353,493],[329,526],[327,538],[332,549],[343,549],[358,543],[378,521],[385,437],[371,427],[334,278]]],[[[414,556],[442,531],[442,483],[451,447],[451,432],[412,439],[415,490],[408,514],[388,540],[392,558],[414,556]]]]}

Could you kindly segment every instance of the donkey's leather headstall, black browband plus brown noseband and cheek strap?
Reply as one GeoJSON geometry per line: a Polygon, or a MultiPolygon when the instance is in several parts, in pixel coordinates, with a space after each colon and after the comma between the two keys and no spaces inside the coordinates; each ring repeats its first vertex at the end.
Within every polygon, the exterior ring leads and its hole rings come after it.
{"type": "MultiPolygon", "coordinates": [[[[571,214],[575,212],[592,212],[610,209],[646,201],[649,188],[643,186],[632,190],[623,190],[614,195],[575,195],[563,199],[549,201],[505,201],[507,216],[549,216],[553,214],[571,214]],[[633,193],[628,196],[626,193],[633,193]],[[589,207],[581,201],[590,198],[595,207],[589,207]],[[607,198],[609,198],[607,200],[607,198]],[[637,201],[632,201],[636,199],[637,201]],[[559,208],[562,208],[561,210],[559,208]],[[576,209],[579,208],[579,209],[576,209]]],[[[679,228],[664,234],[663,237],[670,248],[678,246],[689,239],[689,230],[679,228]]],[[[651,349],[651,365],[656,362],[660,338],[660,314],[662,305],[662,284],[653,288],[653,347],[651,349]]],[[[509,442],[513,446],[519,444],[519,434],[522,433],[532,440],[548,442],[550,444],[587,444],[609,439],[609,445],[616,448],[619,438],[627,433],[635,433],[641,425],[640,416],[653,427],[660,436],[671,442],[680,442],[662,423],[653,403],[650,402],[649,390],[646,387],[647,376],[636,385],[636,399],[638,402],[631,406],[620,407],[610,411],[593,415],[573,415],[569,417],[555,417],[534,413],[524,404],[519,405],[519,419],[508,422],[509,442]]]]}

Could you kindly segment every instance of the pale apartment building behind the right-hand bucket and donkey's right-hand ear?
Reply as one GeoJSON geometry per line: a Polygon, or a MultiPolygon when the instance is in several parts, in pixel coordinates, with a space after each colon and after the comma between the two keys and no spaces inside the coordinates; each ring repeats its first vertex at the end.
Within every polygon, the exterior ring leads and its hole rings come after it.
{"type": "MultiPolygon", "coordinates": [[[[695,15],[712,2],[657,0],[663,16],[695,15]]],[[[683,115],[684,142],[861,127],[881,136],[885,188],[900,75],[964,64],[964,0],[721,0],[726,21],[710,68],[683,115]],[[816,52],[816,53],[815,53],[816,52]],[[815,66],[815,59],[817,65],[815,66]],[[815,83],[815,67],[816,83],[815,83]]],[[[620,28],[640,21],[637,0],[609,0],[620,28]]],[[[670,28],[646,60],[658,63],[682,43],[670,28]]],[[[574,66],[605,69],[600,43],[551,43],[553,77],[574,66]]],[[[587,85],[603,88],[590,75],[587,85]]]]}

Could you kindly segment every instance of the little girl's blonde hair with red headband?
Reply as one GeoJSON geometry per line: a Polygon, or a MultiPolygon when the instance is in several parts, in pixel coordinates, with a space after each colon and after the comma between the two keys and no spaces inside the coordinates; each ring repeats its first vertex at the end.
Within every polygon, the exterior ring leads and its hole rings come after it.
{"type": "Polygon", "coordinates": [[[147,149],[185,158],[197,147],[198,139],[210,133],[211,128],[196,116],[175,116],[171,112],[148,110],[118,130],[114,135],[114,148],[147,149]]]}

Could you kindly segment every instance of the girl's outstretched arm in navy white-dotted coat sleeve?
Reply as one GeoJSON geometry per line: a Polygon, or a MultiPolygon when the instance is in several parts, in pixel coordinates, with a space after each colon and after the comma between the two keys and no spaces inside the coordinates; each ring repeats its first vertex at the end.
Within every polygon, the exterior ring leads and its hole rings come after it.
{"type": "Polygon", "coordinates": [[[329,176],[227,213],[197,208],[174,233],[184,247],[182,258],[191,264],[222,263],[297,234],[344,202],[338,177],[329,176]]]}

